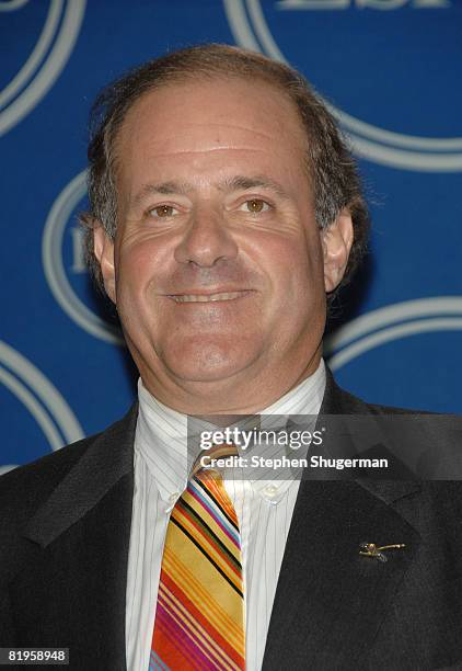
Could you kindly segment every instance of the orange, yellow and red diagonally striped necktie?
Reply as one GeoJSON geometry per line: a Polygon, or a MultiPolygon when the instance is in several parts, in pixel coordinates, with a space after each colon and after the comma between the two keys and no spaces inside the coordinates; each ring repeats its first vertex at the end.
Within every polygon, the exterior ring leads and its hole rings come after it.
{"type": "MultiPolygon", "coordinates": [[[[236,454],[234,446],[212,451],[213,457],[236,454]]],[[[239,523],[217,470],[197,470],[172,510],[152,634],[152,669],[245,670],[239,523]]]]}

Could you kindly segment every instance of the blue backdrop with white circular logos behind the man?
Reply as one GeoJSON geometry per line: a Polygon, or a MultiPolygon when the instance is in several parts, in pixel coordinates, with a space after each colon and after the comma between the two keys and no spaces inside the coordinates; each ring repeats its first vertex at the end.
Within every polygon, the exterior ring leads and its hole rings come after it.
{"type": "Polygon", "coordinates": [[[462,411],[460,0],[0,0],[1,470],[134,397],[82,262],[88,113],[123,70],[210,41],[301,69],[359,159],[372,249],[326,339],[339,383],[462,411]]]}

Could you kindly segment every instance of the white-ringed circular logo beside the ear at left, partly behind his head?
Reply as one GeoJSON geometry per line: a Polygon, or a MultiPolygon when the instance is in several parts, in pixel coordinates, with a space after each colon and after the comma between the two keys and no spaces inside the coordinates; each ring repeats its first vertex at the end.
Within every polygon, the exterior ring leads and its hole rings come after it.
{"type": "Polygon", "coordinates": [[[45,223],[42,259],[53,295],[65,312],[91,336],[124,344],[119,328],[97,314],[95,292],[83,257],[78,212],[86,208],[86,173],[80,172],[56,198],[45,223]]]}

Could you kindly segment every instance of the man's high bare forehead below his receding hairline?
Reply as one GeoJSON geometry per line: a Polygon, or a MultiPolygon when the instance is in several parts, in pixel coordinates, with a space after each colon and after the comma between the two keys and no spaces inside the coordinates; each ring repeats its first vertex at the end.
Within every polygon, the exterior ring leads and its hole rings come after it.
{"type": "Polygon", "coordinates": [[[230,78],[146,93],[128,111],[115,155],[119,177],[131,182],[172,162],[176,170],[216,170],[234,160],[302,170],[305,144],[294,103],[279,88],[230,78]]]}

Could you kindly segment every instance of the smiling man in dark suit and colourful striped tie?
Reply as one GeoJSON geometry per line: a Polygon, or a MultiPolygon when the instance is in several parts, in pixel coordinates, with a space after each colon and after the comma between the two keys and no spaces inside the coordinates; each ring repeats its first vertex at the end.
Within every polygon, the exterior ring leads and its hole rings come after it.
{"type": "Polygon", "coordinates": [[[328,112],[263,56],[172,53],[94,114],[89,258],[139,403],[1,479],[1,645],[69,647],[72,669],[461,668],[457,484],[231,491],[213,476],[242,612],[197,577],[183,536],[175,561],[194,589],[169,588],[178,505],[212,499],[186,455],[187,417],[391,411],[342,391],[322,361],[326,297],[360,258],[367,214],[328,112]],[[382,561],[386,543],[400,549],[382,561]]]}

